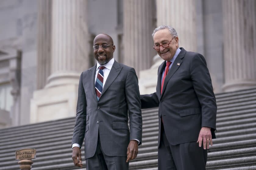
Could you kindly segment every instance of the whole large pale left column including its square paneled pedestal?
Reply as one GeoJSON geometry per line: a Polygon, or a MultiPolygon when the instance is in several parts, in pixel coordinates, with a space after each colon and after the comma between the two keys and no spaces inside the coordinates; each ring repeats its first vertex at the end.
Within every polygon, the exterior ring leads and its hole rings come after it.
{"type": "Polygon", "coordinates": [[[30,123],[75,116],[79,77],[91,66],[87,0],[53,0],[51,8],[51,72],[34,92],[30,123]]]}

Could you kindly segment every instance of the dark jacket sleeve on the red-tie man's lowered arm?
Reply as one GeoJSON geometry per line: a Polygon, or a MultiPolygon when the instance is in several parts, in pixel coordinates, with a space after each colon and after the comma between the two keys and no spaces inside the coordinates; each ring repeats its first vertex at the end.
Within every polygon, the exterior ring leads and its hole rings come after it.
{"type": "Polygon", "coordinates": [[[202,127],[216,130],[217,105],[212,88],[212,80],[204,56],[197,54],[190,63],[190,74],[194,90],[201,104],[202,127]]]}

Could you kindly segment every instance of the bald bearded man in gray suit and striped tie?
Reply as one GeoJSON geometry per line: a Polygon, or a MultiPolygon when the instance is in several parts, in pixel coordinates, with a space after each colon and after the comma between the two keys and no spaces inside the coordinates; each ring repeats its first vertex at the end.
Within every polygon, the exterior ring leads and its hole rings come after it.
{"type": "Polygon", "coordinates": [[[93,43],[98,62],[80,76],[73,162],[82,167],[84,141],[87,170],[128,170],[142,140],[138,79],[133,68],[114,60],[116,47],[110,36],[99,34],[93,43]]]}

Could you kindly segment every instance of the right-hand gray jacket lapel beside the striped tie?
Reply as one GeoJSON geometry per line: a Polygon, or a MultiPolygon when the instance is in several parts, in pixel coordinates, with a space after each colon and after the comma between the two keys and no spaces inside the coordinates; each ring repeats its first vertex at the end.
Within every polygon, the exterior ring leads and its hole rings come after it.
{"type": "Polygon", "coordinates": [[[115,60],[113,66],[108,74],[108,78],[104,84],[101,96],[108,89],[108,87],[113,83],[113,81],[116,79],[116,77],[118,76],[118,74],[120,73],[121,70],[122,70],[122,68],[120,68],[119,63],[117,63],[115,60]]]}

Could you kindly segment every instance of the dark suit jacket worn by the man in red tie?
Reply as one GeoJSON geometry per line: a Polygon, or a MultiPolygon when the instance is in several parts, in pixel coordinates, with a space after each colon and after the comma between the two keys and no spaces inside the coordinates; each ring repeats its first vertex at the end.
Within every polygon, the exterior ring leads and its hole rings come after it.
{"type": "Polygon", "coordinates": [[[141,107],[158,107],[160,142],[161,117],[165,134],[172,145],[197,141],[201,127],[212,128],[215,137],[217,106],[211,77],[204,56],[180,48],[170,68],[161,95],[164,61],[158,68],[156,92],[141,95],[141,107]]]}

